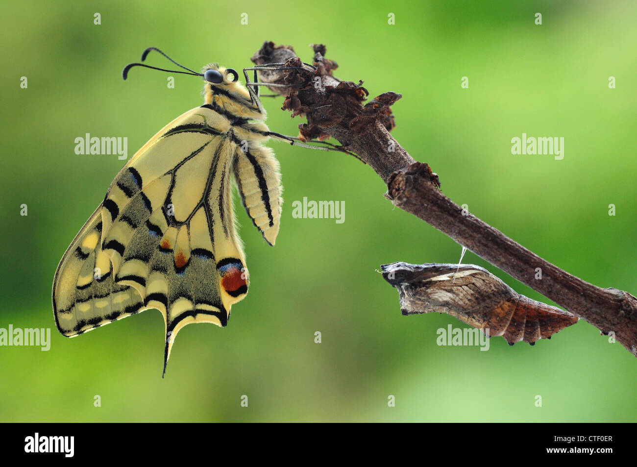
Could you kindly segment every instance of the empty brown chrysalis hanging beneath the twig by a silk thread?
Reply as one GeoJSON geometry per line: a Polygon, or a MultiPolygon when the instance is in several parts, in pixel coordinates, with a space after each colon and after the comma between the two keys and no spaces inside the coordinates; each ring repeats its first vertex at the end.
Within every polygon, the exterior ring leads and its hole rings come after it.
{"type": "Polygon", "coordinates": [[[398,289],[403,315],[447,313],[489,329],[490,337],[503,336],[509,345],[534,345],[578,321],[569,312],[515,292],[475,264],[394,262],[381,268],[383,278],[398,289]]]}

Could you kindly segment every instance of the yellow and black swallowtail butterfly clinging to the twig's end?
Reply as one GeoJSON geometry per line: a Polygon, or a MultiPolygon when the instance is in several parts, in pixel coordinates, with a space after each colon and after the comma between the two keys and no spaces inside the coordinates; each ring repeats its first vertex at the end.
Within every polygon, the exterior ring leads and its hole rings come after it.
{"type": "Polygon", "coordinates": [[[275,138],[322,150],[336,147],[305,145],[269,131],[257,70],[283,64],[243,69],[244,87],[234,69],[211,63],[197,73],[155,47],[147,48],[141,61],[152,51],[186,71],[132,63],[123,78],[136,66],[201,76],[204,104],[163,127],[115,176],[57,266],[52,300],[57,329],[68,337],[149,308],[159,310],[166,324],[163,376],[183,326],[226,326],[231,306],[248,292],[250,277],[234,224],[233,181],[255,227],[275,245],[281,175],[273,150],[263,143],[275,138]],[[252,83],[248,70],[254,71],[252,83]]]}

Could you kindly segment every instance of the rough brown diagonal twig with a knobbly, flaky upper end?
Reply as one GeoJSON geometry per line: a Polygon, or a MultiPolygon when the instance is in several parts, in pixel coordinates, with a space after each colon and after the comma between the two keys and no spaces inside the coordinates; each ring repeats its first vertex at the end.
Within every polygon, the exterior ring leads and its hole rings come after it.
{"type": "MultiPolygon", "coordinates": [[[[385,92],[363,106],[367,91],[362,82],[355,84],[335,78],[332,71],[337,67],[336,62],[324,58],[323,45],[313,48],[315,73],[308,68],[261,76],[265,82],[292,86],[283,108],[307,118],[307,123],[299,126],[301,138],[331,136],[340,141],[387,183],[385,196],[394,205],[586,320],[602,334],[615,333],[617,341],[637,355],[637,298],[618,289],[601,289],[589,284],[522,247],[473,214],[463,212],[441,192],[438,176],[429,166],[415,162],[389,133],[394,126],[390,106],[401,95],[385,92]],[[540,280],[535,278],[536,268],[541,269],[540,280]]],[[[287,61],[287,66],[301,66],[291,47],[275,47],[271,42],[264,43],[252,60],[257,64],[287,61]]],[[[280,89],[283,88],[273,88],[275,92],[280,89]]]]}

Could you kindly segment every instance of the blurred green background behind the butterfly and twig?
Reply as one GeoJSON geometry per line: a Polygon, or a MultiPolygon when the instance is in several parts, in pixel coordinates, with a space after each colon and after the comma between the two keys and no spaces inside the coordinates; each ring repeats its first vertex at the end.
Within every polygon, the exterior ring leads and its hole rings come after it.
{"type": "MultiPolygon", "coordinates": [[[[375,173],[338,153],[271,143],[285,187],[276,247],[238,209],[250,293],[225,329],[185,327],[163,380],[159,312],[69,340],[55,329],[50,303],[59,259],[123,164],[115,155],[76,155],[75,138],[127,136],[130,156],[201,103],[192,76],[173,75],[168,89],[166,73],[136,69],[124,82],[122,67],[152,45],[191,68],[218,61],[241,69],[264,40],[294,45],[306,61],[308,44],[325,43],[326,56],[340,64],[336,76],[365,80],[371,97],[402,93],[393,134],[440,175],[445,194],[566,271],[635,294],[634,2],[25,1],[1,8],[0,327],[50,327],[52,345],[49,352],[0,347],[0,420],[636,419],[635,357],[585,322],[534,347],[493,338],[480,352],[436,345],[436,329],[464,326],[447,315],[402,316],[379,265],[456,262],[461,247],[394,209],[375,173]],[[543,25],[534,24],[536,12],[543,25]],[[462,76],[469,89],[461,89],[462,76]],[[608,88],[609,76],[617,89],[608,88]],[[510,140],[522,133],[563,136],[564,159],[512,155],[510,140]],[[345,223],[293,219],[292,201],[304,196],[345,201],[345,223]]],[[[148,62],[169,65],[159,55],[148,62]]],[[[281,111],[281,99],[264,104],[271,129],[297,133],[303,120],[281,111]]],[[[543,299],[471,252],[464,262],[543,299]]]]}

